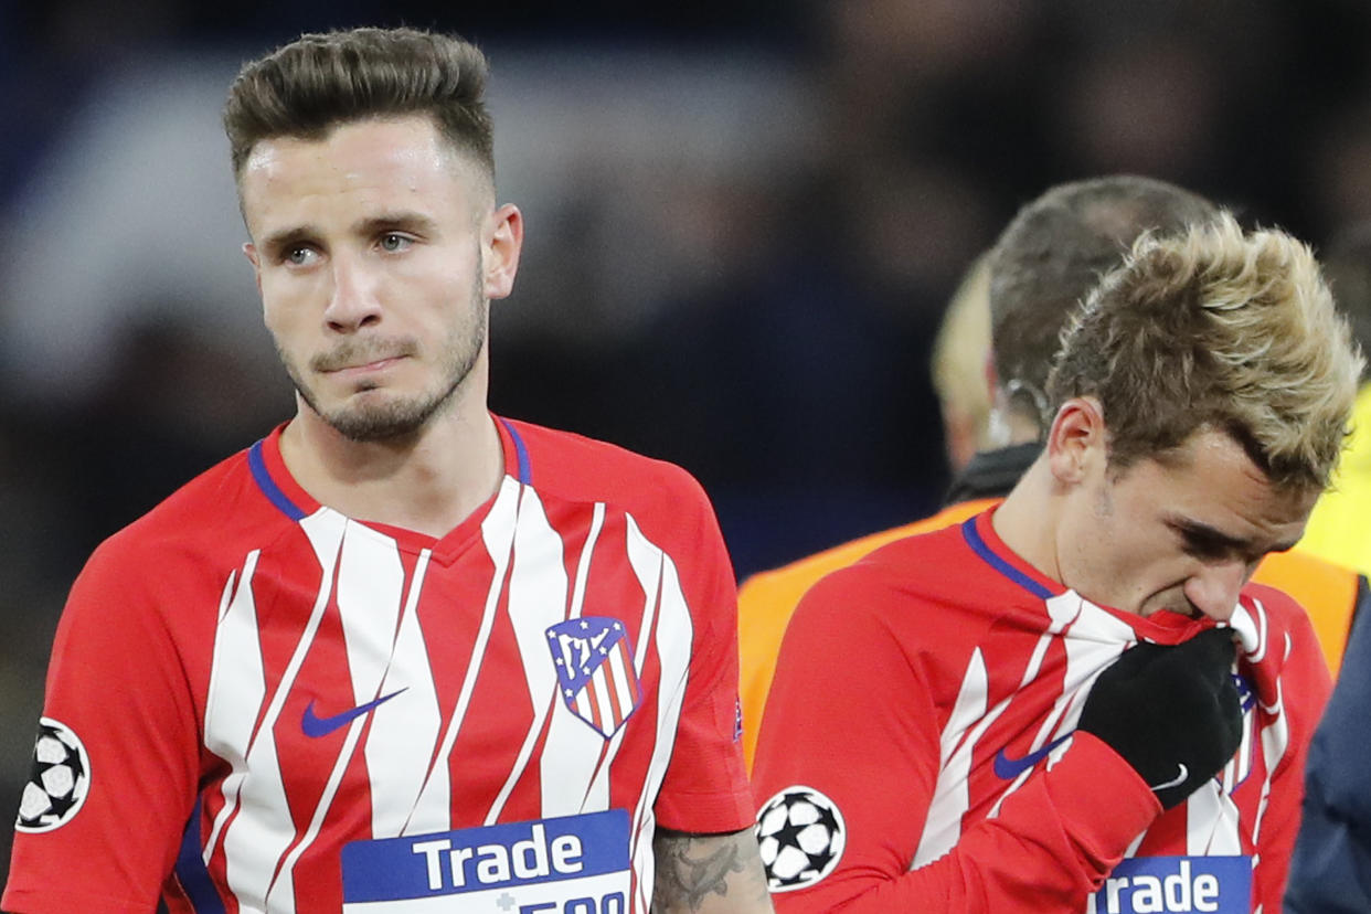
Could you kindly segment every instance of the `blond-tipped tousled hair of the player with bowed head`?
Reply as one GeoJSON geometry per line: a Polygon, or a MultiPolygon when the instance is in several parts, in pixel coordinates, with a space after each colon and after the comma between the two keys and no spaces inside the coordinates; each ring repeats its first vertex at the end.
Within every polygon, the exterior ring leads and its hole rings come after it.
{"type": "Polygon", "coordinates": [[[1215,429],[1276,486],[1322,489],[1361,366],[1308,245],[1220,212],[1132,245],[1063,330],[1047,396],[1098,399],[1116,471],[1215,429]]]}

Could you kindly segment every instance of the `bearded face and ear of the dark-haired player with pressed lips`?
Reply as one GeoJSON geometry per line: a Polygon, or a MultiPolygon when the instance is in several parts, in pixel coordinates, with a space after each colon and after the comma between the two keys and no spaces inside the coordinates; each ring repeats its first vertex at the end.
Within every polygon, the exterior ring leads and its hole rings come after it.
{"type": "Polygon", "coordinates": [[[308,410],[377,441],[463,386],[484,402],[489,299],[513,285],[520,215],[494,208],[429,118],[265,140],[240,193],[266,326],[308,410]]]}

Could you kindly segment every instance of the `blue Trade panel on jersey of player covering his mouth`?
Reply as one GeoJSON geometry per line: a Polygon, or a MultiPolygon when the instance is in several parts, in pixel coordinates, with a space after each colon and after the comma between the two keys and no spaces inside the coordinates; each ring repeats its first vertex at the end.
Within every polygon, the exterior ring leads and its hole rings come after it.
{"type": "Polygon", "coordinates": [[[1090,896],[1087,914],[1249,914],[1250,856],[1135,856],[1090,896]]]}

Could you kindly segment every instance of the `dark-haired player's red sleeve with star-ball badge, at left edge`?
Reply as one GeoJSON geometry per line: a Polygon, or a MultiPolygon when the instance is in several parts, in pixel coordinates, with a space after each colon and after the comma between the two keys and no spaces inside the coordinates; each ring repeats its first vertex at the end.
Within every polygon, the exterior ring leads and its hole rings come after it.
{"type": "MultiPolygon", "coordinates": [[[[159,573],[106,543],[73,585],[43,717],[49,739],[84,752],[75,782],[85,796],[36,828],[21,808],[5,911],[156,909],[195,802],[199,745],[186,673],[144,580],[159,573]]],[[[36,773],[55,752],[40,740],[36,773]]]]}

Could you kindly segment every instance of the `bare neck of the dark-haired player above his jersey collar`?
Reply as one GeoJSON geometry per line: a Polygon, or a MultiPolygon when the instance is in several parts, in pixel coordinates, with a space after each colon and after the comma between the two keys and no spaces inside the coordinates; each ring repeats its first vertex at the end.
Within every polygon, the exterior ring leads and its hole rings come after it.
{"type": "Polygon", "coordinates": [[[441,537],[495,493],[505,471],[484,396],[462,393],[413,434],[387,441],[345,439],[300,403],[281,433],[281,458],[319,504],[441,537]]]}

